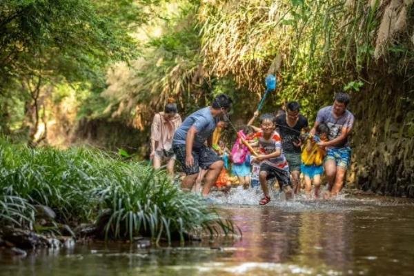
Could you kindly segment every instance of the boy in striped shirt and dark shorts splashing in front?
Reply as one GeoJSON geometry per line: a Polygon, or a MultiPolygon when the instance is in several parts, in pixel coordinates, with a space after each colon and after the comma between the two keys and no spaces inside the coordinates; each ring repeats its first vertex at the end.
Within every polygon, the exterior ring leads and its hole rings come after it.
{"type": "Polygon", "coordinates": [[[259,181],[264,197],[260,205],[270,201],[267,180],[276,177],[279,186],[283,188],[286,198],[293,195],[292,184],[289,177],[289,166],[283,155],[282,143],[279,133],[275,130],[275,116],[268,113],[260,117],[261,131],[255,134],[257,141],[252,146],[259,146],[259,155],[253,157],[253,162],[261,162],[259,181]]]}

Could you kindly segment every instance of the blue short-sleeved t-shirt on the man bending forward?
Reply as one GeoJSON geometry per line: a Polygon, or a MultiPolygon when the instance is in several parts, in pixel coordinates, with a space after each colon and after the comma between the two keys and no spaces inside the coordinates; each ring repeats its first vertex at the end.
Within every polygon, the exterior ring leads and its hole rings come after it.
{"type": "Polygon", "coordinates": [[[218,119],[211,115],[210,107],[201,108],[183,121],[181,126],[175,131],[172,144],[185,145],[188,130],[195,126],[197,133],[194,137],[193,148],[201,148],[208,137],[213,134],[217,122],[218,119]]]}

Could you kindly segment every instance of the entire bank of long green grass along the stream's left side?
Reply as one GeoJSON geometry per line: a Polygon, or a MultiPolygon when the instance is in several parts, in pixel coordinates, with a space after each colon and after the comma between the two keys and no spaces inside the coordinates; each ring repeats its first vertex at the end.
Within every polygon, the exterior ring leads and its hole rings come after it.
{"type": "MultiPolygon", "coordinates": [[[[30,228],[48,206],[59,223],[104,222],[113,239],[184,239],[234,232],[233,224],[183,193],[165,172],[90,148],[31,149],[0,139],[0,224],[30,228]],[[107,219],[103,219],[106,216],[107,219]]],[[[99,233],[97,233],[99,234],[99,233]]]]}

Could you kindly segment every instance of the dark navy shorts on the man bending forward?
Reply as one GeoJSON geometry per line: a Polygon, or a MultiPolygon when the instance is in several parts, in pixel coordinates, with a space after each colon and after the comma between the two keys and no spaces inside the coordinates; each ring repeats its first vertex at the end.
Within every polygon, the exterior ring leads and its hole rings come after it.
{"type": "Polygon", "coordinates": [[[220,161],[221,158],[215,153],[215,151],[207,146],[201,146],[201,148],[193,148],[191,154],[194,158],[193,166],[186,166],[186,145],[172,145],[179,164],[186,175],[195,175],[199,172],[200,168],[207,170],[211,164],[220,161]]]}

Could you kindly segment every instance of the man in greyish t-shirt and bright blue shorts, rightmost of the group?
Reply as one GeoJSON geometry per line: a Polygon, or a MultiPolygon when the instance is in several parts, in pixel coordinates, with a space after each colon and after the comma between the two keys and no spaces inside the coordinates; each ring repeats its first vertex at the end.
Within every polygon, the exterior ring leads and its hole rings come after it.
{"type": "Polygon", "coordinates": [[[346,170],[351,163],[351,147],[348,137],[355,121],[354,115],[346,110],[350,97],[346,93],[337,93],[333,106],[326,106],[317,112],[315,126],[311,134],[315,135],[319,124],[329,128],[329,141],[319,141],[321,148],[326,148],[324,169],[328,179],[328,189],[331,195],[337,195],[344,185],[346,170]]]}

